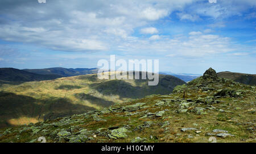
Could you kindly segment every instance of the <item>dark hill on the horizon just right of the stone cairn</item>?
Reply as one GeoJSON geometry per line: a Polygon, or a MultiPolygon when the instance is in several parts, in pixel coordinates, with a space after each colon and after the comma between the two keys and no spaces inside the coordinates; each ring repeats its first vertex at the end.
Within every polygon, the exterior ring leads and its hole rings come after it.
{"type": "Polygon", "coordinates": [[[238,72],[218,72],[218,77],[234,80],[235,82],[256,85],[256,74],[242,74],[238,72]]]}

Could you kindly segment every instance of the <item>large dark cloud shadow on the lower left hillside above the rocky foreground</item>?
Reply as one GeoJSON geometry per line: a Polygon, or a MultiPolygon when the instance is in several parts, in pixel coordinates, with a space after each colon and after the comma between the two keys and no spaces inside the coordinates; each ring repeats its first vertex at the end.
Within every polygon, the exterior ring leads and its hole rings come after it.
{"type": "Polygon", "coordinates": [[[95,109],[81,104],[72,104],[72,101],[67,98],[34,99],[11,92],[0,92],[0,127],[16,126],[10,123],[11,119],[22,117],[55,119],[85,113],[89,110],[95,109]]]}

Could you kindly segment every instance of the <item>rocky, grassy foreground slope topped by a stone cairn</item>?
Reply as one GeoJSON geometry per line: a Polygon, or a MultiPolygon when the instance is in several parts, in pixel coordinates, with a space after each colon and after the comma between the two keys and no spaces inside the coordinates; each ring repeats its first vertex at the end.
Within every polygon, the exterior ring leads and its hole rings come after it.
{"type": "Polygon", "coordinates": [[[253,86],[213,69],[175,87],[109,108],[0,129],[0,142],[256,142],[253,86]],[[212,138],[214,137],[214,138],[212,138]]]}

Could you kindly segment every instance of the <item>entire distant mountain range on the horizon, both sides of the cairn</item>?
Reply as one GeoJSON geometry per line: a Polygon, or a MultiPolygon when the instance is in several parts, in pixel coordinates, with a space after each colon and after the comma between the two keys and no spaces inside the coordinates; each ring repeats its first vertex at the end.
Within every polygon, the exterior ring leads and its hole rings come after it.
{"type": "MultiPolygon", "coordinates": [[[[0,83],[6,82],[32,82],[42,80],[53,80],[62,77],[96,74],[97,68],[77,68],[66,69],[63,67],[53,67],[48,69],[13,69],[13,68],[0,68],[0,83]]],[[[184,82],[190,82],[193,79],[198,78],[201,74],[175,74],[169,71],[159,72],[162,75],[172,75],[176,78],[183,80],[184,82]]],[[[255,74],[242,74],[237,72],[218,72],[220,78],[232,79],[236,82],[243,84],[256,85],[255,74]]]]}

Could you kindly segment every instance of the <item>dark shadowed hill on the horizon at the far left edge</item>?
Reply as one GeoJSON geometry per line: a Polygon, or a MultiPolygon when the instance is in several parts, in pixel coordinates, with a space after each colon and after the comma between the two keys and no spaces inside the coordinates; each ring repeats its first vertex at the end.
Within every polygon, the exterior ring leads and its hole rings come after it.
{"type": "Polygon", "coordinates": [[[56,74],[40,75],[13,68],[0,68],[0,80],[9,82],[31,82],[40,80],[52,80],[60,77],[60,75],[56,74]]]}

